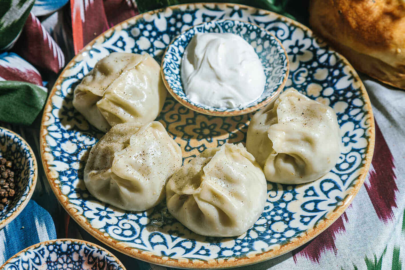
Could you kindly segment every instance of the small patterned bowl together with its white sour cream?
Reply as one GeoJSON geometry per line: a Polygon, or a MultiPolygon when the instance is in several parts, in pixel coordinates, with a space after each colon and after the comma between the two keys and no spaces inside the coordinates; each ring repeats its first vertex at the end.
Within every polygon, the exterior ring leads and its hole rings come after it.
{"type": "Polygon", "coordinates": [[[168,45],[162,78],[184,106],[207,115],[243,115],[271,102],[288,77],[281,42],[259,26],[216,20],[186,30],[168,45]]]}

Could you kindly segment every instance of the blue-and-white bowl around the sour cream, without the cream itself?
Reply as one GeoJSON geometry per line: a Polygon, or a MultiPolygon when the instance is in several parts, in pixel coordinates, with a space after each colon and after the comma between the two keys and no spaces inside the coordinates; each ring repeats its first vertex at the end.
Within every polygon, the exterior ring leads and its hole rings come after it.
{"type": "Polygon", "coordinates": [[[275,100],[286,84],[289,72],[286,50],[275,36],[260,26],[247,21],[214,20],[202,23],[181,33],[168,45],[162,59],[162,79],[169,93],[182,105],[198,113],[234,116],[254,112],[275,100]],[[245,39],[259,56],[266,84],[260,98],[247,106],[216,108],[198,104],[187,98],[180,76],[181,59],[185,48],[196,33],[232,33],[245,39]]]}

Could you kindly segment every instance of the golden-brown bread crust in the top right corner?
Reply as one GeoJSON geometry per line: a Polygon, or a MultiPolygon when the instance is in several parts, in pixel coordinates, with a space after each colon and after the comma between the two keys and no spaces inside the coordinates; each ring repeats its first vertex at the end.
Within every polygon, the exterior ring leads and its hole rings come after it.
{"type": "Polygon", "coordinates": [[[311,0],[309,14],[354,68],[405,89],[405,0],[311,0]]]}

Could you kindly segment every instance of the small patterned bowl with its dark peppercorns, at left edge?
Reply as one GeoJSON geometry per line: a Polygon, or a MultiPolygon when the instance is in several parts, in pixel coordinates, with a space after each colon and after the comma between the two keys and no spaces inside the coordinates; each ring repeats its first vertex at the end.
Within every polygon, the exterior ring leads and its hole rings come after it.
{"type": "Polygon", "coordinates": [[[28,204],[37,176],[36,158],[28,143],[0,127],[0,229],[28,204]]]}

